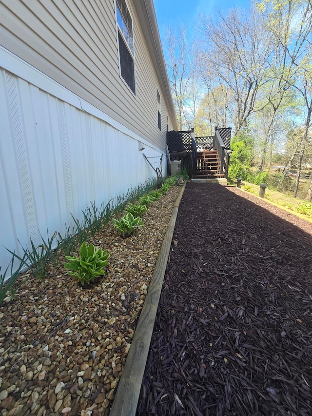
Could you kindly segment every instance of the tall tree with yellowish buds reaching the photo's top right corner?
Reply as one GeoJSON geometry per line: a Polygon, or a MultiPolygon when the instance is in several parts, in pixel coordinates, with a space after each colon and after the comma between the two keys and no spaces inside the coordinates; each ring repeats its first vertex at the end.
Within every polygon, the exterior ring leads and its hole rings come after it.
{"type": "Polygon", "coordinates": [[[298,60],[307,48],[311,32],[311,6],[301,0],[262,1],[257,10],[264,18],[264,30],[271,34],[273,54],[267,73],[264,105],[269,109],[269,119],[261,151],[259,170],[263,170],[267,147],[273,139],[273,128],[278,110],[289,93],[299,66],[298,60]]]}

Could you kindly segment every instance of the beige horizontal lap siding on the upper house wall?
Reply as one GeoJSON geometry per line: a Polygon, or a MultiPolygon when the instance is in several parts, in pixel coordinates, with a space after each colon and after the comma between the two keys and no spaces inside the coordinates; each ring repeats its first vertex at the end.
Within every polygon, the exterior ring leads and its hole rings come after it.
{"type": "MultiPolygon", "coordinates": [[[[160,132],[157,125],[156,87],[161,85],[136,10],[127,4],[134,26],[136,96],[119,76],[114,0],[0,0],[0,44],[164,149],[166,126],[160,132]]],[[[165,100],[162,106],[163,121],[165,100]]]]}

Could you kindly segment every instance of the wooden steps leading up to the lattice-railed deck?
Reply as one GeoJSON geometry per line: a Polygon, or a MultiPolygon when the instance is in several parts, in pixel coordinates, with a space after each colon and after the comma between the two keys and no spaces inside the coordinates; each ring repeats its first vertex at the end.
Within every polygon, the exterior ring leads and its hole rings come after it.
{"type": "Polygon", "coordinates": [[[197,153],[196,175],[194,178],[224,178],[221,174],[221,160],[217,150],[204,150],[197,153]]]}

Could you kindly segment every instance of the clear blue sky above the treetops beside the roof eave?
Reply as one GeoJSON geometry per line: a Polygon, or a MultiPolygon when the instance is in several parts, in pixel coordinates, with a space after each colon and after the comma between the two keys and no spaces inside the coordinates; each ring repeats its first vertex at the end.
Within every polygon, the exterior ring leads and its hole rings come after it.
{"type": "Polygon", "coordinates": [[[196,24],[196,16],[200,13],[213,15],[216,7],[226,11],[236,6],[250,8],[250,0],[154,0],[156,17],[161,40],[163,26],[177,27],[181,22],[187,26],[188,38],[192,38],[196,24]]]}

